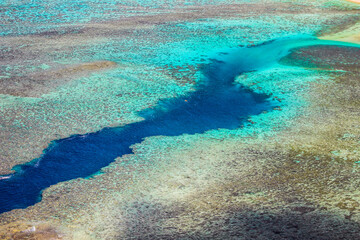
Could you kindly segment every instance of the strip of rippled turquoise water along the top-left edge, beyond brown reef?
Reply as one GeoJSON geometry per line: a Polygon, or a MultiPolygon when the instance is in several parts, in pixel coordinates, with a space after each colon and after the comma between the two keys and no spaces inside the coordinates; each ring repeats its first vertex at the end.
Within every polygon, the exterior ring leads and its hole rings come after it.
{"type": "MultiPolygon", "coordinates": [[[[249,0],[237,0],[238,3],[249,0]]],[[[157,11],[188,6],[218,5],[226,0],[4,0],[0,1],[0,36],[66,32],[81,23],[149,15],[157,11]],[[59,30],[59,28],[64,28],[59,30]]]]}

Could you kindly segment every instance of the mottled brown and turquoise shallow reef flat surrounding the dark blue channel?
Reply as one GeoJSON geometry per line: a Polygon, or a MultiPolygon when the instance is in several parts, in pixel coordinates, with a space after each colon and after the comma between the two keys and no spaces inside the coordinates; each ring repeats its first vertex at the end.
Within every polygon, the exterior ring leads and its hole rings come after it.
{"type": "MultiPolygon", "coordinates": [[[[140,122],[136,112],[193,92],[214,54],[336,34],[356,26],[359,8],[129,2],[94,14],[102,19],[3,24],[2,173],[51,140],[140,122]],[[81,67],[93,62],[109,64],[81,67]],[[6,79],[19,83],[8,89],[6,79]]],[[[359,50],[335,45],[299,47],[236,78],[271,95],[272,111],[232,130],[146,138],[102,174],[53,185],[34,206],[0,215],[1,238],[356,239],[359,50]]]]}

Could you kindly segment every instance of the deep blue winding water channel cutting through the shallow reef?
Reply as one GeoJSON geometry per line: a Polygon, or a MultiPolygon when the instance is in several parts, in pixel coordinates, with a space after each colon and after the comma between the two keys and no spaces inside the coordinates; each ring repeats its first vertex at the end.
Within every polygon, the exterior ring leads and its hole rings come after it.
{"type": "Polygon", "coordinates": [[[0,213],[37,203],[41,191],[50,185],[98,172],[115,158],[132,153],[129,147],[145,137],[236,129],[248,116],[269,110],[267,96],[233,81],[243,72],[268,67],[286,55],[291,41],[282,41],[219,54],[203,68],[204,81],[196,91],[140,112],[142,122],[53,141],[39,159],[18,166],[13,176],[0,180],[0,213]]]}

